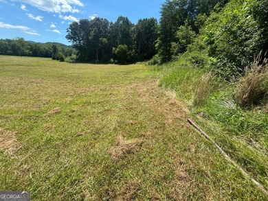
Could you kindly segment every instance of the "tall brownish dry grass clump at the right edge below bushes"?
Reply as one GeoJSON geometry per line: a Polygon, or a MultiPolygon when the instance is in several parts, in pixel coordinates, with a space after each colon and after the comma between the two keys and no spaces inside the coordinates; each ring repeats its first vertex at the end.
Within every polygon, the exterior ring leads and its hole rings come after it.
{"type": "Polygon", "coordinates": [[[251,67],[246,69],[245,76],[238,81],[234,97],[241,106],[257,105],[268,93],[268,60],[260,64],[258,56],[251,67]]]}

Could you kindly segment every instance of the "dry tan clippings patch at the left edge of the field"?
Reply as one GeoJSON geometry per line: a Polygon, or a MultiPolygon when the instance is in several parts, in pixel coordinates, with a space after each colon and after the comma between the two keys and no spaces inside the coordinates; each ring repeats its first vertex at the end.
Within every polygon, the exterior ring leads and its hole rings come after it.
{"type": "Polygon", "coordinates": [[[0,128],[0,150],[5,150],[12,155],[16,150],[19,150],[21,144],[16,140],[18,132],[11,132],[0,128]]]}

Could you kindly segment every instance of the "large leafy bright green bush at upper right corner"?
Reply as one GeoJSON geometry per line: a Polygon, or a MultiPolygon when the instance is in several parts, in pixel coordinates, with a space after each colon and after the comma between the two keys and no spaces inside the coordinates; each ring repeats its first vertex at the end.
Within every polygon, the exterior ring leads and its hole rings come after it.
{"type": "Polygon", "coordinates": [[[267,51],[267,27],[254,13],[263,5],[261,12],[267,14],[268,6],[264,2],[230,1],[221,12],[208,18],[203,39],[211,57],[209,69],[229,80],[238,78],[261,50],[267,51]]]}

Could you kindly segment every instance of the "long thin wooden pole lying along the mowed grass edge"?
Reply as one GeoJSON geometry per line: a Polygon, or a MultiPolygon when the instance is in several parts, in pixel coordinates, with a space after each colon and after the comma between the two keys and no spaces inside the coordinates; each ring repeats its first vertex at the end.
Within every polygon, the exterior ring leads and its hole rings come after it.
{"type": "Polygon", "coordinates": [[[194,128],[196,128],[201,134],[203,134],[203,136],[208,139],[209,141],[211,141],[215,147],[217,147],[217,149],[221,152],[221,154],[223,154],[223,156],[225,157],[225,159],[227,161],[229,161],[230,163],[232,163],[235,167],[237,167],[241,172],[242,174],[248,178],[249,180],[252,180],[252,182],[254,182],[254,184],[261,190],[263,191],[263,193],[265,193],[266,196],[268,196],[268,191],[265,189],[265,187],[263,187],[263,185],[261,185],[259,182],[257,182],[254,178],[252,178],[251,176],[249,176],[249,174],[244,170],[242,169],[242,167],[240,167],[236,162],[234,162],[232,160],[232,158],[230,158],[230,156],[228,156],[224,151],[223,149],[214,141],[212,140],[208,134],[206,134],[205,132],[203,132],[203,130],[201,130],[201,128],[199,128],[192,120],[190,119],[187,119],[188,123],[190,123],[191,126],[193,126],[194,128]]]}

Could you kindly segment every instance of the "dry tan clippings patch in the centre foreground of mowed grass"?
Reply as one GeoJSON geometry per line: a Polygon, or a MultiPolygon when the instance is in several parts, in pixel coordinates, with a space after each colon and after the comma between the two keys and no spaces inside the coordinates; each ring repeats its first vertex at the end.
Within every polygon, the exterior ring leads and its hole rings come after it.
{"type": "Polygon", "coordinates": [[[116,139],[116,145],[108,150],[112,158],[117,160],[126,154],[133,154],[140,150],[143,141],[140,139],[126,140],[121,135],[116,139]]]}

